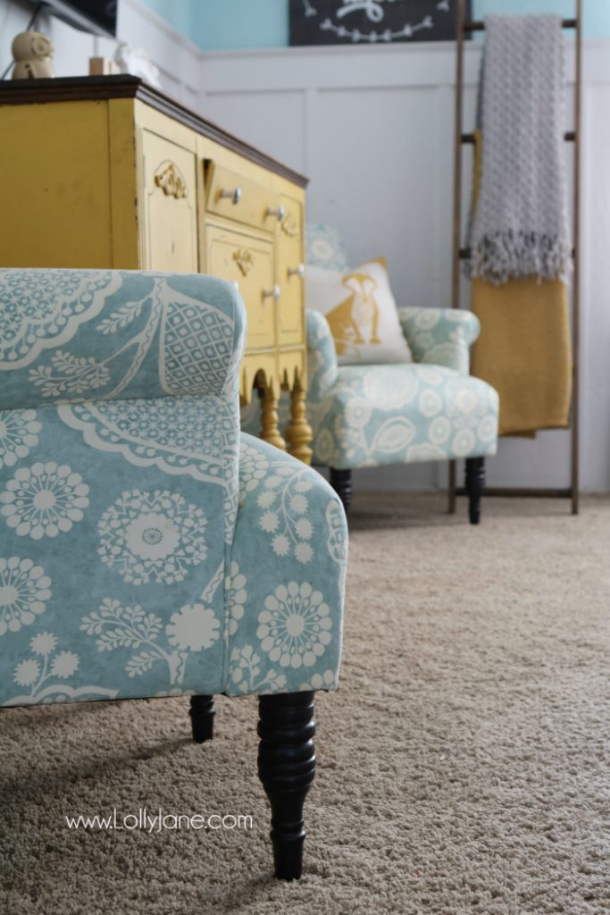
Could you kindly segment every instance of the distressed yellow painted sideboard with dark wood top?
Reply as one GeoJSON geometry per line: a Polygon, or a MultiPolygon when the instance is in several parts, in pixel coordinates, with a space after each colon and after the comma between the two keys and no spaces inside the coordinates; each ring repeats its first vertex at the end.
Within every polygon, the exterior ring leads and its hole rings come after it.
{"type": "Polygon", "coordinates": [[[213,274],[248,313],[241,399],[311,459],[301,175],[132,76],[0,83],[0,265],[213,274]]]}

